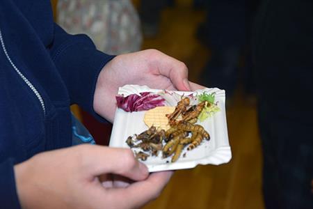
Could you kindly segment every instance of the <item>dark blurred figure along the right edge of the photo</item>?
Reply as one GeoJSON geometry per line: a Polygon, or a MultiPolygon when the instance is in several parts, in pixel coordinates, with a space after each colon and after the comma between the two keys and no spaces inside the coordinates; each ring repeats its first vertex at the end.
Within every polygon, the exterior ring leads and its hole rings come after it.
{"type": "Polygon", "coordinates": [[[313,208],[313,2],[262,2],[256,22],[266,208],[313,208]]]}

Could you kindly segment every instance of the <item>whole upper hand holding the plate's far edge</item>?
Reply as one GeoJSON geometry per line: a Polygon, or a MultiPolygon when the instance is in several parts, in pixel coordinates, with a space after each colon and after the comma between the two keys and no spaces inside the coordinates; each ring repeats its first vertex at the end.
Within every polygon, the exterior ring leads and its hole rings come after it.
{"type": "Polygon", "coordinates": [[[125,84],[179,91],[204,88],[188,82],[188,69],[184,63],[157,50],[122,54],[107,63],[99,74],[93,102],[97,114],[113,121],[115,95],[125,84]]]}

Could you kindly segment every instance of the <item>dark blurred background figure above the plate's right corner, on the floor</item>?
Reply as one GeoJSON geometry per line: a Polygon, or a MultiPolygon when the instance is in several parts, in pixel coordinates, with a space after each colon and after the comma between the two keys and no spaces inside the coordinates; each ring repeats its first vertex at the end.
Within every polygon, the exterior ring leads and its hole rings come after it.
{"type": "Polygon", "coordinates": [[[259,1],[211,0],[204,3],[207,11],[197,36],[211,50],[211,57],[202,72],[204,86],[226,90],[230,100],[241,79],[246,95],[254,95],[251,31],[259,1]],[[241,58],[239,63],[239,59],[241,58]]]}

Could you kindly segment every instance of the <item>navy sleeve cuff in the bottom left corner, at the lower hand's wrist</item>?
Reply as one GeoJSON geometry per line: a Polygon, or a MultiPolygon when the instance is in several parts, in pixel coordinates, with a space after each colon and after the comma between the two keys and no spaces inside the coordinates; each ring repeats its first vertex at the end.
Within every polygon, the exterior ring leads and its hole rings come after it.
{"type": "Polygon", "coordinates": [[[0,162],[0,204],[3,209],[19,209],[19,199],[15,186],[13,159],[0,162]]]}

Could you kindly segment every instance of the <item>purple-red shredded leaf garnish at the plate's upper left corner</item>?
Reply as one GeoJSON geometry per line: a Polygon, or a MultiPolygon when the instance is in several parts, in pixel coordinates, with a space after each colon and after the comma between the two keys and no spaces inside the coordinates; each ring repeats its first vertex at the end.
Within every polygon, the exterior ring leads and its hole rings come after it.
{"type": "Polygon", "coordinates": [[[116,95],[116,103],[119,108],[125,111],[143,111],[153,109],[154,107],[164,106],[164,101],[160,95],[150,92],[140,93],[141,95],[131,94],[127,97],[116,95]]]}

